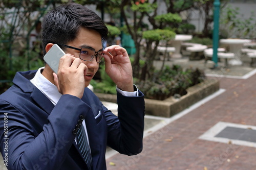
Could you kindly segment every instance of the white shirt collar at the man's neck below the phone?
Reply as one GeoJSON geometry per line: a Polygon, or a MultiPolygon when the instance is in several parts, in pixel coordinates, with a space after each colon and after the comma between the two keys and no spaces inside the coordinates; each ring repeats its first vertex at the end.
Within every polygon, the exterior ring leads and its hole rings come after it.
{"type": "Polygon", "coordinates": [[[42,76],[41,71],[44,68],[45,67],[39,68],[35,74],[35,77],[30,81],[42,93],[44,93],[54,105],[56,105],[62,94],[59,93],[58,88],[54,84],[52,84],[48,79],[42,76]]]}

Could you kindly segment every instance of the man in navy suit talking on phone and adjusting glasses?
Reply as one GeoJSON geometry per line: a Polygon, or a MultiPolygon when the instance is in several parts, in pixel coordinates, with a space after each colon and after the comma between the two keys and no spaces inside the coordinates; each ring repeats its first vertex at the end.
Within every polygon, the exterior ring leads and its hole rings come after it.
{"type": "Polygon", "coordinates": [[[107,34],[101,18],[78,4],[45,15],[44,54],[58,44],[66,55],[57,74],[48,64],[17,72],[14,85],[0,95],[0,150],[8,169],[102,170],[106,145],[126,155],[142,151],[144,96],[133,84],[125,49],[102,49],[107,34]],[[118,116],[87,88],[102,58],[116,84],[118,116]],[[81,128],[83,142],[89,145],[86,158],[78,147],[81,128]]]}

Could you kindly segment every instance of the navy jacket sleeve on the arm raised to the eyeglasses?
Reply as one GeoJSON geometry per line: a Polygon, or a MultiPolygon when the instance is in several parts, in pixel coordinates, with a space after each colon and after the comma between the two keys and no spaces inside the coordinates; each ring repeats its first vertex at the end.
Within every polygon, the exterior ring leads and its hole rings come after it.
{"type": "Polygon", "coordinates": [[[136,155],[142,151],[144,130],[144,94],[128,97],[117,93],[118,118],[106,112],[108,145],[125,155],[136,155]]]}

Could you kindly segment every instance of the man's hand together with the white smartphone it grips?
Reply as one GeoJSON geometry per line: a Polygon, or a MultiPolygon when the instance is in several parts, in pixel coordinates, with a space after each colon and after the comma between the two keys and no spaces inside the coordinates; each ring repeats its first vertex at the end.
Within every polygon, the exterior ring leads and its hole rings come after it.
{"type": "Polygon", "coordinates": [[[52,45],[44,60],[54,71],[54,83],[59,92],[75,95],[81,99],[87,66],[79,58],[65,54],[57,44],[52,45]]]}

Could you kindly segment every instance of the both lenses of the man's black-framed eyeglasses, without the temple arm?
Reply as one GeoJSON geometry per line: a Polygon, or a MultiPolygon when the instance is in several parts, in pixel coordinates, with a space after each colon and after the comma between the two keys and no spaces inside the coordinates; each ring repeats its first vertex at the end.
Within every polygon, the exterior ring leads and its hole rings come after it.
{"type": "Polygon", "coordinates": [[[80,58],[85,61],[91,61],[93,57],[96,57],[96,61],[99,63],[103,57],[103,51],[99,51],[96,53],[94,50],[90,48],[83,47],[81,49],[80,58]]]}

